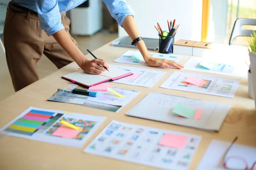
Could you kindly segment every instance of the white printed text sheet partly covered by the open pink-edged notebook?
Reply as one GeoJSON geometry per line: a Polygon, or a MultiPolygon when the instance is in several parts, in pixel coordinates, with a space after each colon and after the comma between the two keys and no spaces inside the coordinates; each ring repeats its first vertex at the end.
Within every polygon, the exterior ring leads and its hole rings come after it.
{"type": "Polygon", "coordinates": [[[151,88],[158,80],[160,80],[165,74],[165,71],[155,71],[150,69],[143,69],[137,67],[128,67],[122,65],[110,65],[126,71],[131,71],[133,75],[124,77],[122,79],[114,80],[126,85],[137,85],[146,88],[151,88]]]}

